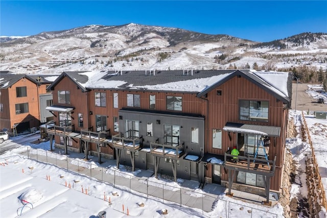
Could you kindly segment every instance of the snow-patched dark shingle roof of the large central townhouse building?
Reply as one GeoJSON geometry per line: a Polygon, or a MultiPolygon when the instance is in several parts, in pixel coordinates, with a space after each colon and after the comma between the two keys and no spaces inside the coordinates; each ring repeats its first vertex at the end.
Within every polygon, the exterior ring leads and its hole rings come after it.
{"type": "Polygon", "coordinates": [[[68,71],[63,72],[49,89],[53,89],[64,77],[69,77],[82,91],[90,89],[174,91],[197,93],[197,96],[201,97],[236,76],[247,78],[284,103],[291,101],[291,73],[249,69],[68,71]]]}

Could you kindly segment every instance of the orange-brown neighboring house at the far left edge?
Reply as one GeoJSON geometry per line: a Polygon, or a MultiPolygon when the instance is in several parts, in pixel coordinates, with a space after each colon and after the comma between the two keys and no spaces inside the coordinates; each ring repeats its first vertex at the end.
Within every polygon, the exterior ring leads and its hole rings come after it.
{"type": "MultiPolygon", "coordinates": [[[[53,117],[49,111],[40,110],[40,105],[52,104],[52,93],[47,91],[46,87],[53,81],[46,80],[46,77],[49,76],[0,71],[1,131],[13,133],[15,127],[17,133],[33,132],[38,129],[40,123],[45,123],[53,117]],[[46,99],[43,101],[43,98],[46,99]]],[[[58,75],[50,77],[55,80],[58,75]]]]}

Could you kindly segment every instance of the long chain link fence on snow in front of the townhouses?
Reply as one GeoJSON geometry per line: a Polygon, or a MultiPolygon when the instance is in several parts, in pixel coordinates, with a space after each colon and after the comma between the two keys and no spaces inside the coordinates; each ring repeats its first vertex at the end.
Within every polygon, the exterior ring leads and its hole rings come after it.
{"type": "MultiPolygon", "coordinates": [[[[235,204],[233,202],[217,199],[217,195],[210,193],[203,193],[191,188],[180,188],[170,186],[167,184],[157,183],[135,177],[130,174],[116,171],[108,167],[102,167],[92,162],[80,161],[76,158],[69,158],[65,155],[56,154],[53,152],[44,151],[41,149],[32,149],[26,147],[26,151],[20,152],[21,155],[27,156],[28,159],[36,160],[38,162],[53,164],[67,171],[75,172],[81,176],[88,176],[99,181],[111,184],[114,187],[124,186],[129,192],[136,191],[143,193],[146,198],[158,198],[162,203],[175,202],[180,206],[188,206],[191,208],[198,208],[205,212],[211,212],[215,207],[225,208],[224,214],[219,214],[219,217],[240,217],[239,210],[233,210],[235,204]],[[234,205],[233,205],[234,204],[234,205]]],[[[277,214],[255,209],[249,206],[237,204],[240,210],[243,210],[243,217],[252,217],[252,214],[260,211],[260,214],[265,214],[262,217],[277,218],[277,214]]],[[[218,215],[218,214],[217,214],[218,215]]],[[[257,217],[257,215],[255,215],[257,217]]]]}

